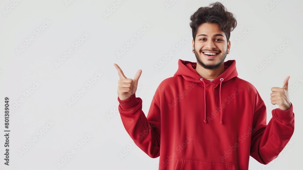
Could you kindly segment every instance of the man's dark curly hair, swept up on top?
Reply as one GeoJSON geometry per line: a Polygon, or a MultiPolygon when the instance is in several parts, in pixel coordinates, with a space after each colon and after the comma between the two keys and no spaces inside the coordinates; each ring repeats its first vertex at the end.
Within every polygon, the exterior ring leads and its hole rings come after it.
{"type": "Polygon", "coordinates": [[[225,33],[227,42],[229,41],[230,32],[237,26],[237,20],[233,13],[228,12],[221,2],[209,4],[207,7],[200,7],[190,17],[189,23],[192,29],[192,37],[195,41],[198,27],[203,23],[216,23],[225,33]]]}

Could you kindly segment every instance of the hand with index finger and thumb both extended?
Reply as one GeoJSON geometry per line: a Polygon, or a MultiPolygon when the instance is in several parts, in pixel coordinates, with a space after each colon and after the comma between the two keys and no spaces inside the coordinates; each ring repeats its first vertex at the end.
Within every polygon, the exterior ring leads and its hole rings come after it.
{"type": "Polygon", "coordinates": [[[136,93],[138,87],[138,80],[141,76],[142,70],[140,69],[137,71],[135,78],[133,80],[126,78],[125,75],[123,74],[123,71],[116,63],[114,63],[114,66],[118,70],[118,75],[120,77],[120,79],[118,80],[118,90],[117,90],[118,97],[120,100],[126,100],[131,95],[136,93]]]}

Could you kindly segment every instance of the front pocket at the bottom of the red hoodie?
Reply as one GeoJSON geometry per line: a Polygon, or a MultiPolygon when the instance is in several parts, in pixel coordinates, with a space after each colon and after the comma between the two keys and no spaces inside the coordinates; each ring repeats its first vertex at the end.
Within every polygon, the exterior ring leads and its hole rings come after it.
{"type": "Polygon", "coordinates": [[[234,163],[228,162],[213,162],[213,161],[201,161],[195,159],[178,158],[175,170],[235,170],[234,163]]]}

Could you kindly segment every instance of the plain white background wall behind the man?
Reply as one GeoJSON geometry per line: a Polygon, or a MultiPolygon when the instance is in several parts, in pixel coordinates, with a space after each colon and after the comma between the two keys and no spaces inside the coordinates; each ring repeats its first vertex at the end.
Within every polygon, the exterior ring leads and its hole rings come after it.
{"type": "MultiPolygon", "coordinates": [[[[162,80],[174,75],[178,59],[196,62],[191,53],[189,17],[211,1],[121,2],[115,8],[116,0],[71,3],[24,0],[17,5],[12,5],[12,0],[0,1],[1,113],[5,97],[9,97],[11,106],[15,105],[9,118],[9,166],[4,165],[3,155],[4,114],[0,117],[0,169],[60,169],[58,163],[73,149],[76,153],[61,169],[158,169],[159,157],[150,158],[137,146],[120,156],[134,142],[117,111],[119,77],[113,63],[122,68],[127,78],[134,78],[137,70],[142,69],[136,96],[142,98],[142,110],[147,115],[156,88],[162,80]],[[167,6],[169,3],[172,5],[167,6]],[[111,8],[114,11],[105,16],[111,8]],[[50,22],[47,27],[43,27],[45,21],[50,22]],[[138,39],[135,34],[148,23],[150,28],[138,39]],[[36,29],[43,31],[38,34],[36,29]],[[79,39],[83,33],[89,36],[82,41],[79,39]],[[16,52],[31,36],[34,40],[28,46],[25,44],[22,52],[16,52]],[[182,42],[184,36],[190,40],[176,51],[174,46],[182,42]],[[118,57],[117,52],[131,39],[135,43],[118,57]],[[75,41],[83,43],[75,49],[75,41]],[[73,53],[55,65],[69,49],[73,53]],[[155,65],[169,52],[174,56],[156,70],[155,65]],[[102,76],[89,88],[86,83],[94,79],[96,73],[102,76]],[[37,82],[38,87],[34,85],[37,82]],[[83,95],[68,104],[82,88],[86,89],[83,95]],[[30,95],[26,95],[27,90],[32,91],[30,95]],[[52,126],[47,125],[50,121],[52,126]],[[44,134],[37,134],[40,129],[44,134]],[[85,138],[86,134],[92,137],[85,138]],[[37,140],[30,144],[33,138],[37,140]],[[85,144],[79,149],[77,144],[81,141],[85,144]]],[[[268,167],[250,158],[249,169],[301,169],[298,166],[303,143],[303,85],[297,81],[303,77],[302,2],[221,2],[235,14],[238,22],[230,37],[236,45],[225,61],[236,60],[238,77],[257,88],[267,106],[268,121],[271,110],[278,108],[270,103],[271,87],[282,87],[289,75],[289,87],[294,89],[290,94],[295,113],[291,142],[268,167]],[[267,9],[270,5],[271,9],[267,9]],[[247,27],[252,29],[249,31],[247,27]],[[242,39],[238,36],[241,34],[242,39]],[[281,46],[285,39],[290,43],[281,46]],[[281,52],[275,53],[280,46],[281,52]],[[266,63],[265,58],[270,55],[275,58],[266,63]],[[266,66],[257,72],[260,63],[266,66]]]]}

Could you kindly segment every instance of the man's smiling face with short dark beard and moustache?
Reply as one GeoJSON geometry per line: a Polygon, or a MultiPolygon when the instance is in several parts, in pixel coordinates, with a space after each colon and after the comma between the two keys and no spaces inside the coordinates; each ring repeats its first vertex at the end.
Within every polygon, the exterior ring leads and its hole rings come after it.
{"type": "Polygon", "coordinates": [[[229,54],[230,41],[227,42],[225,33],[217,24],[203,23],[198,27],[195,41],[192,40],[192,47],[195,49],[197,64],[205,69],[216,69],[229,54]],[[216,55],[212,55],[213,53],[216,55]]]}

